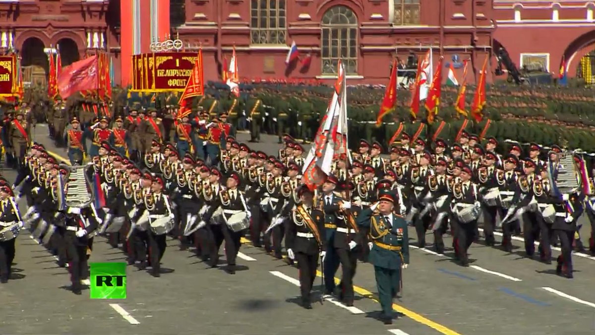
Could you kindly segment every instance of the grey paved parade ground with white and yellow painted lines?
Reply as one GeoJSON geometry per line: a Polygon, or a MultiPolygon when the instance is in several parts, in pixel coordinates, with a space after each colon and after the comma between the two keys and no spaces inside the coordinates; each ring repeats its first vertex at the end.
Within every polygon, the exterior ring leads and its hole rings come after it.
{"type": "MultiPolygon", "coordinates": [[[[65,156],[47,137],[43,125],[34,140],[65,156]]],[[[247,134],[239,134],[247,142],[247,134]]],[[[253,149],[277,154],[277,137],[262,136],[253,149]]],[[[66,159],[64,159],[66,160],[66,159]]],[[[2,174],[15,179],[12,170],[2,174]]],[[[24,206],[21,204],[21,206],[24,206]]],[[[21,209],[24,211],[25,209],[21,209]]],[[[588,236],[586,218],[581,233],[588,236]]],[[[581,223],[580,222],[580,223],[581,223]]],[[[409,228],[415,245],[415,229],[409,228]]],[[[496,239],[499,241],[500,236],[496,239]]],[[[428,236],[428,242],[432,237],[428,236]]],[[[449,247],[452,240],[445,236],[449,247]]],[[[393,308],[399,318],[384,325],[377,318],[372,265],[358,263],[356,301],[347,307],[318,298],[313,309],[299,306],[297,268],[244,243],[237,274],[209,268],[192,251],[168,240],[162,272],[154,278],[127,268],[127,299],[98,300],[73,295],[67,268],[23,230],[17,238],[14,274],[0,286],[3,334],[593,334],[595,333],[595,257],[575,253],[574,279],[524,256],[522,236],[512,253],[474,243],[469,267],[453,261],[452,249],[438,255],[412,246],[403,270],[403,290],[393,308]]],[[[220,251],[223,254],[223,250],[220,251]]],[[[559,249],[553,248],[553,256],[559,249]]],[[[537,256],[536,256],[537,258],[537,256]]],[[[125,262],[119,249],[96,237],[90,262],[125,262]]],[[[225,262],[225,257],[221,257],[225,262]]],[[[337,276],[340,277],[340,270],[337,276]]],[[[319,273],[320,274],[320,273],[319,273]]]]}

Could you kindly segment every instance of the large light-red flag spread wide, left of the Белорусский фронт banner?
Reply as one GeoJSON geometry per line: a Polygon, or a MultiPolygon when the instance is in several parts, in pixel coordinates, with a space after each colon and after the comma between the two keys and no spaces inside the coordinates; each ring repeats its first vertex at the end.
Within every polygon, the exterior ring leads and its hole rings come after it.
{"type": "Polygon", "coordinates": [[[98,57],[92,56],[74,62],[62,69],[58,78],[58,91],[66,99],[80,90],[93,90],[99,86],[98,57]]]}

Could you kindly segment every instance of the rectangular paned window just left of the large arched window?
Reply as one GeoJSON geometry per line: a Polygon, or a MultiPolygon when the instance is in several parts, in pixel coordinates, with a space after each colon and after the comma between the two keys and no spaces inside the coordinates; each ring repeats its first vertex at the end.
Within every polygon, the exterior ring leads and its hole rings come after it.
{"type": "Polygon", "coordinates": [[[250,43],[286,44],[286,0],[252,0],[250,2],[250,43]]]}

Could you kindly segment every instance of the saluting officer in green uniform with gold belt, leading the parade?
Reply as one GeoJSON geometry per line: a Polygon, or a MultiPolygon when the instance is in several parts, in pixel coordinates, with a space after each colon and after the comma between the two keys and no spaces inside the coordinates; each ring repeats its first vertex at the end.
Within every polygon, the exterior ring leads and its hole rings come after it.
{"type": "Polygon", "coordinates": [[[407,223],[393,211],[394,196],[381,193],[378,202],[364,209],[357,218],[358,226],[369,228],[372,249],[368,262],[374,265],[384,324],[393,323],[393,298],[400,290],[401,269],[409,264],[407,223]]]}

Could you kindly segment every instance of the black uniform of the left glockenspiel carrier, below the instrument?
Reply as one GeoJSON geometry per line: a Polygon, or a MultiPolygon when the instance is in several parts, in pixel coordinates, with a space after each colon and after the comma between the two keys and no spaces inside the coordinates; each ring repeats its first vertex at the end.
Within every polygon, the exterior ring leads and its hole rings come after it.
{"type": "Polygon", "coordinates": [[[65,214],[64,242],[68,259],[68,270],[72,282],[72,291],[80,295],[82,279],[87,274],[87,247],[89,246],[88,235],[98,226],[97,218],[90,208],[69,208],[65,214]]]}

